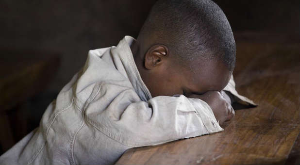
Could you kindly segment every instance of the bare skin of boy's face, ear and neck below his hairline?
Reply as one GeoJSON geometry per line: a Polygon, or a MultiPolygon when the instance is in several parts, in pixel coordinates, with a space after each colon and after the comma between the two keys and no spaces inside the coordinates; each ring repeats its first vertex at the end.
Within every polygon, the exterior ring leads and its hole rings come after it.
{"type": "Polygon", "coordinates": [[[220,60],[198,59],[186,69],[172,60],[172,53],[164,45],[140,48],[140,54],[136,53],[137,45],[131,47],[135,64],[152,97],[176,94],[188,97],[189,94],[221,91],[230,80],[232,71],[220,60]]]}

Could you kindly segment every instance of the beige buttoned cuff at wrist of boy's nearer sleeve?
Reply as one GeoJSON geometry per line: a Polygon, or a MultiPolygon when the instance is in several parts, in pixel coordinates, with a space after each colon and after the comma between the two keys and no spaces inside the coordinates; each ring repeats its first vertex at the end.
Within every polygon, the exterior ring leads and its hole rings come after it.
{"type": "Polygon", "coordinates": [[[223,131],[213,113],[211,107],[201,99],[188,98],[194,105],[196,114],[201,118],[203,125],[209,133],[223,131]]]}

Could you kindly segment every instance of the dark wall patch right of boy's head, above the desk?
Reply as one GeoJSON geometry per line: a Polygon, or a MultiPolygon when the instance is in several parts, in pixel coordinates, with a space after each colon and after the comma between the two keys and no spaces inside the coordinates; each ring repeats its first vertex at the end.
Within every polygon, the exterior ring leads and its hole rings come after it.
{"type": "Polygon", "coordinates": [[[233,31],[299,34],[299,0],[214,1],[228,16],[233,31]]]}

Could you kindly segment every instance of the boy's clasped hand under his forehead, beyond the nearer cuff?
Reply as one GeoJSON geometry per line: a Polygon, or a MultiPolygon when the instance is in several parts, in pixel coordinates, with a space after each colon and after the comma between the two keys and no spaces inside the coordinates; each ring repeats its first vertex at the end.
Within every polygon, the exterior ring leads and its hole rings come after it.
{"type": "Polygon", "coordinates": [[[220,125],[225,121],[232,119],[235,114],[231,102],[226,100],[218,91],[209,91],[203,95],[191,94],[187,97],[205,101],[212,108],[220,125]]]}

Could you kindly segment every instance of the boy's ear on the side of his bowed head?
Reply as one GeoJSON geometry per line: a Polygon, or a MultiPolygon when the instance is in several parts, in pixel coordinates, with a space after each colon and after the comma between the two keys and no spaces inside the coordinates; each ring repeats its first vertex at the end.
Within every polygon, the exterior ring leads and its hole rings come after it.
{"type": "Polygon", "coordinates": [[[153,69],[163,64],[169,52],[164,45],[154,45],[145,54],[144,66],[147,69],[153,69]]]}

